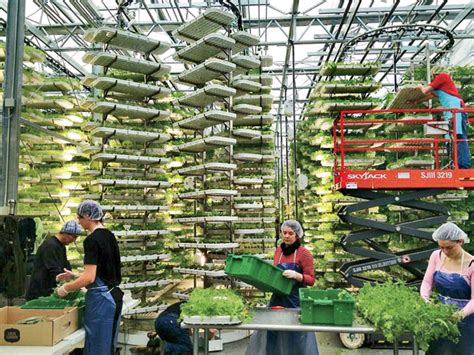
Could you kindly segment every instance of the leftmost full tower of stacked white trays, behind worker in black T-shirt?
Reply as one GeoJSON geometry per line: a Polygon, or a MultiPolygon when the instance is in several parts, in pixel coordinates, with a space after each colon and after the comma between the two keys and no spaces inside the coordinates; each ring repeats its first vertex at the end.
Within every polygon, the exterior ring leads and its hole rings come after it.
{"type": "Polygon", "coordinates": [[[107,43],[103,51],[83,57],[103,68],[82,81],[96,93],[81,104],[90,112],[83,125],[90,137],[83,148],[90,154],[85,197],[101,203],[121,248],[121,288],[141,300],[132,313],[146,317],[160,309],[163,288],[172,283],[165,267],[174,238],[168,229],[173,162],[166,145],[172,139],[172,106],[171,90],[162,83],[171,68],[158,59],[170,45],[108,27],[89,29],[84,39],[107,43]],[[117,54],[114,48],[137,55],[117,54]]]}

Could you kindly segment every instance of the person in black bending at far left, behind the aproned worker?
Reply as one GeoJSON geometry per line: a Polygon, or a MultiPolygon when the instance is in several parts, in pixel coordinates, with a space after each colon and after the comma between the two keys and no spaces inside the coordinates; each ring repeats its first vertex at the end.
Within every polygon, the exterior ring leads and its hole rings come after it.
{"type": "Polygon", "coordinates": [[[71,269],[66,257],[66,246],[81,234],[81,226],[76,221],[68,221],[54,237],[46,239],[36,252],[30,285],[26,300],[49,296],[56,288],[56,276],[64,269],[71,269]]]}

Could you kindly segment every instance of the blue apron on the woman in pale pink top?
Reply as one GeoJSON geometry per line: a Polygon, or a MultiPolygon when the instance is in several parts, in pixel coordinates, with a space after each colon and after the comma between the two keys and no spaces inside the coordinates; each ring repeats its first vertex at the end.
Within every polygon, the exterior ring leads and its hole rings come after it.
{"type": "MultiPolygon", "coordinates": [[[[439,292],[440,301],[453,304],[462,309],[471,300],[471,287],[462,276],[464,252],[461,258],[461,273],[447,273],[439,270],[433,274],[434,286],[439,292]]],[[[439,338],[430,343],[426,355],[473,355],[474,354],[474,314],[459,323],[461,337],[455,344],[446,338],[439,338]]]]}

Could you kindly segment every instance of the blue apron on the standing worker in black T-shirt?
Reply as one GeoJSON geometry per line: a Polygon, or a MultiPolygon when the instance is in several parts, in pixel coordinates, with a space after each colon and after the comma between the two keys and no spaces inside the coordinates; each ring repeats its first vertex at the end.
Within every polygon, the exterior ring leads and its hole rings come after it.
{"type": "Polygon", "coordinates": [[[87,286],[84,310],[86,331],[84,355],[115,354],[120,315],[116,317],[117,307],[111,291],[99,277],[87,286]]]}

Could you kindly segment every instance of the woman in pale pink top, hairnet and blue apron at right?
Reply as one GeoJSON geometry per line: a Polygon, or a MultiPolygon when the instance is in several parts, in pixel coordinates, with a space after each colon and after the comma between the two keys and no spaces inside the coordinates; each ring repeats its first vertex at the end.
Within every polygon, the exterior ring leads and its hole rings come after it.
{"type": "Polygon", "coordinates": [[[448,222],[433,233],[433,240],[441,250],[431,254],[420,294],[429,300],[433,287],[438,291],[442,303],[455,305],[453,317],[460,319],[461,338],[455,344],[447,338],[440,338],[430,344],[427,355],[473,355],[474,354],[474,259],[463,249],[469,241],[457,225],[448,222]]]}

